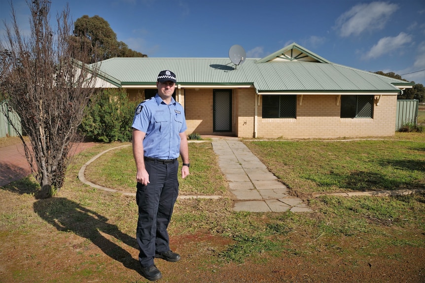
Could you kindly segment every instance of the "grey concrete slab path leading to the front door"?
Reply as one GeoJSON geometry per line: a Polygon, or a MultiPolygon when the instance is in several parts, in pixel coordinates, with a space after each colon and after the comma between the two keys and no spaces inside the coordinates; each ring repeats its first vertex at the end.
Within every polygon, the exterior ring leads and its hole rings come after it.
{"type": "Polygon", "coordinates": [[[310,212],[306,204],[289,195],[288,188],[238,139],[213,138],[218,165],[237,199],[235,211],[310,212]]]}

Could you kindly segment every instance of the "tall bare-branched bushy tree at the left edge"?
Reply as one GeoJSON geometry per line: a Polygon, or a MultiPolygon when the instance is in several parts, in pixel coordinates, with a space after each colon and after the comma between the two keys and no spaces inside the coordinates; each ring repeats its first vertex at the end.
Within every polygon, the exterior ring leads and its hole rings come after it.
{"type": "Polygon", "coordinates": [[[7,41],[0,41],[0,95],[21,118],[29,142],[19,137],[44,198],[63,186],[77,127],[95,92],[96,70],[81,63],[87,53],[71,38],[68,7],[57,15],[54,32],[50,0],[27,4],[31,35],[19,30],[11,4],[13,28],[6,26],[7,41]]]}

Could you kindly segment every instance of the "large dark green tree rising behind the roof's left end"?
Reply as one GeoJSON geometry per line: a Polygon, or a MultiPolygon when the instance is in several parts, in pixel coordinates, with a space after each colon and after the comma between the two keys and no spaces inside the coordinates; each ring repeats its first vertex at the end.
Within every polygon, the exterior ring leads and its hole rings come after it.
{"type": "Polygon", "coordinates": [[[85,47],[89,46],[87,63],[106,60],[114,57],[147,57],[147,55],[128,48],[127,44],[118,41],[116,33],[109,23],[99,16],[87,15],[78,18],[74,23],[73,34],[85,47]]]}

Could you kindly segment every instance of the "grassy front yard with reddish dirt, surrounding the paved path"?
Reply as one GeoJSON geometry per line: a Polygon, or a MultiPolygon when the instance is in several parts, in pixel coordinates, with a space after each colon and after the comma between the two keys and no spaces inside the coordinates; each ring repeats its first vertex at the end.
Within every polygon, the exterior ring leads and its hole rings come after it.
{"type": "MultiPolygon", "coordinates": [[[[182,260],[155,261],[161,281],[424,282],[424,193],[311,197],[317,191],[424,189],[424,133],[245,143],[314,212],[234,212],[211,142],[190,143],[191,175],[180,180],[181,193],[223,197],[177,201],[169,233],[182,260]]],[[[37,199],[32,178],[0,188],[0,282],[147,282],[138,272],[134,197],[77,178],[82,164],[118,145],[79,154],[54,198],[37,199]]],[[[130,148],[99,159],[101,170],[92,163],[86,178],[134,191],[130,148]]]]}

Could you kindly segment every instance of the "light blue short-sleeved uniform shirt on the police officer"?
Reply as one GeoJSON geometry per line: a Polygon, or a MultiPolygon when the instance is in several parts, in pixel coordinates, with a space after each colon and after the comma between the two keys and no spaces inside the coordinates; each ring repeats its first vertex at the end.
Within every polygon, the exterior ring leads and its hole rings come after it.
{"type": "Polygon", "coordinates": [[[143,139],[145,157],[175,159],[180,155],[179,133],[187,126],[183,106],[173,97],[169,105],[158,94],[140,103],[132,127],[146,133],[143,139]]]}

